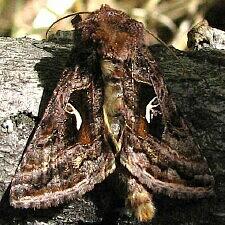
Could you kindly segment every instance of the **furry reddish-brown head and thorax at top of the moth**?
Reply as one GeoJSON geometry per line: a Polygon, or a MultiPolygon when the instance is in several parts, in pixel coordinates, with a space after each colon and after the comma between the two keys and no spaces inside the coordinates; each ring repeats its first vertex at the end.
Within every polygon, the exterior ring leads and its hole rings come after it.
{"type": "Polygon", "coordinates": [[[78,22],[75,29],[85,43],[96,46],[100,58],[127,60],[144,42],[143,24],[107,5],[78,22]]]}

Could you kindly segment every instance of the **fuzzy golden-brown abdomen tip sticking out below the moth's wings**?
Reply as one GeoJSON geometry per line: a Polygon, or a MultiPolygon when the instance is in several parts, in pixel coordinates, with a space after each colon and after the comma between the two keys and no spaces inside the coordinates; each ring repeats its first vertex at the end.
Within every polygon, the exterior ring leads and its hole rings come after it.
{"type": "Polygon", "coordinates": [[[152,195],[134,178],[128,178],[127,191],[126,207],[139,221],[151,221],[155,215],[152,195]]]}

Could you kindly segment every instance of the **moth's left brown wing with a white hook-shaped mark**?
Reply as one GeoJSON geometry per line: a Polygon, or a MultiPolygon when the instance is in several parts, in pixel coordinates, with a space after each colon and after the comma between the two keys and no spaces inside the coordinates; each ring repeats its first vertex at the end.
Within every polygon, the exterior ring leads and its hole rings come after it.
{"type": "Polygon", "coordinates": [[[12,180],[12,206],[56,206],[93,189],[114,170],[100,133],[101,98],[100,85],[88,73],[78,67],[63,73],[12,180]],[[83,119],[80,128],[74,111],[83,119]]]}

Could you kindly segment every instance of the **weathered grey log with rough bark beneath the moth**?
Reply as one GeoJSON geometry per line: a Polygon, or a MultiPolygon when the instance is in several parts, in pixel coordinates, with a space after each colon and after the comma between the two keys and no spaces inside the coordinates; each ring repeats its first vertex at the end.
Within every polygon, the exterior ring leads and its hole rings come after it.
{"type": "MultiPolygon", "coordinates": [[[[0,224],[139,224],[122,216],[113,221],[111,207],[116,203],[108,181],[57,208],[33,211],[9,206],[10,181],[71,48],[70,42],[0,38],[0,224]]],[[[151,224],[224,224],[225,53],[173,49],[178,60],[161,45],[149,50],[216,180],[216,197],[210,201],[156,198],[158,210],[151,224]]]]}

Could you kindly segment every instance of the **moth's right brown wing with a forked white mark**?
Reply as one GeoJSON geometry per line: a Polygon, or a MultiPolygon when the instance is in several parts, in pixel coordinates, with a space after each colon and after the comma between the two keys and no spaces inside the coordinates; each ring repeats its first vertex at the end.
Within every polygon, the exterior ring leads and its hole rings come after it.
{"type": "Polygon", "coordinates": [[[149,51],[140,52],[133,68],[138,101],[135,123],[127,121],[121,163],[153,192],[178,198],[212,195],[214,179],[208,164],[149,51]],[[149,67],[139,66],[143,59],[149,67]]]}

